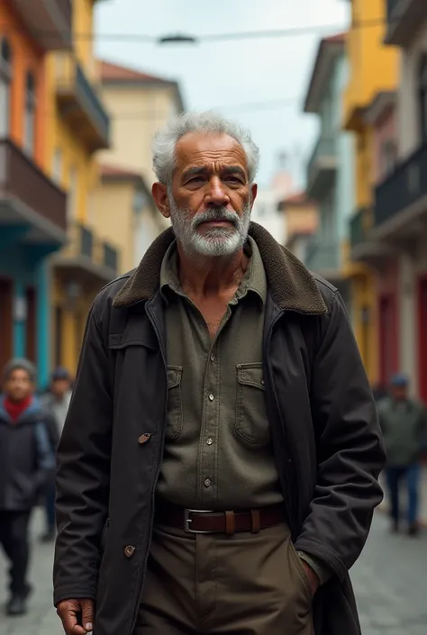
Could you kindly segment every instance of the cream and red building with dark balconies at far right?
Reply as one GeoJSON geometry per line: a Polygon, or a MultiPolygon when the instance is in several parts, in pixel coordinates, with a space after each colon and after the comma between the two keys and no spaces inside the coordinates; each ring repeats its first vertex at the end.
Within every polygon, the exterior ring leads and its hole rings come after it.
{"type": "Polygon", "coordinates": [[[377,270],[381,378],[398,368],[427,401],[427,11],[420,0],[384,5],[384,43],[392,56],[397,47],[400,79],[370,109],[377,183],[357,249],[377,270]]]}

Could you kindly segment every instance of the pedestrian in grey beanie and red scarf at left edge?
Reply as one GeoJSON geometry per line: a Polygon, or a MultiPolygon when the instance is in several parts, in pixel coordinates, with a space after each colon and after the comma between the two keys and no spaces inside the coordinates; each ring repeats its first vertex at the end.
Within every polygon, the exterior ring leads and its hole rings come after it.
{"type": "Polygon", "coordinates": [[[54,468],[49,415],[34,396],[34,381],[35,368],[27,359],[6,365],[0,397],[0,543],[11,563],[9,615],[26,612],[28,525],[54,468]]]}

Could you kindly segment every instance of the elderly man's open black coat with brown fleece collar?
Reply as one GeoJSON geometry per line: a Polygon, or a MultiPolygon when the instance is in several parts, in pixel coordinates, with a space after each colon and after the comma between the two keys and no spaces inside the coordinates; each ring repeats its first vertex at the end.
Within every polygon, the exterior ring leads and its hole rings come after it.
{"type": "MultiPolygon", "coordinates": [[[[313,599],[316,635],[359,635],[348,571],[359,558],[385,453],[337,290],[251,223],[268,277],[268,420],[295,548],[332,572],[313,599]]],[[[164,447],[167,367],[159,271],[165,231],[106,286],[86,325],[59,442],[54,601],[95,600],[95,635],[131,635],[164,447]]]]}

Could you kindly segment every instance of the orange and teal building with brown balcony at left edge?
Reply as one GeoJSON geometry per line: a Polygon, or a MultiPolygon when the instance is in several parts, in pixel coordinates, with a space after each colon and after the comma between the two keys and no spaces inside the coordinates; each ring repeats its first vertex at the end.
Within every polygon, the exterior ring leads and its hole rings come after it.
{"type": "Polygon", "coordinates": [[[31,358],[41,384],[50,370],[47,257],[67,240],[67,195],[46,168],[45,58],[70,46],[69,3],[0,3],[0,367],[31,358]]]}

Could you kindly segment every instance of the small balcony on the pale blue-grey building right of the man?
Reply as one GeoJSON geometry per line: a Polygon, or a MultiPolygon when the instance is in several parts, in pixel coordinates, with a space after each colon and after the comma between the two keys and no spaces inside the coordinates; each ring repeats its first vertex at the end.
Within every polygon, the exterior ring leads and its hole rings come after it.
{"type": "Polygon", "coordinates": [[[335,140],[321,137],[307,165],[307,195],[322,199],[331,189],[337,173],[335,140]]]}

